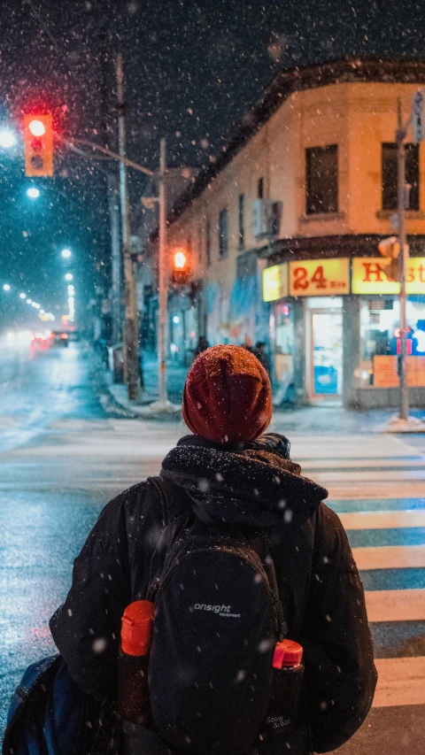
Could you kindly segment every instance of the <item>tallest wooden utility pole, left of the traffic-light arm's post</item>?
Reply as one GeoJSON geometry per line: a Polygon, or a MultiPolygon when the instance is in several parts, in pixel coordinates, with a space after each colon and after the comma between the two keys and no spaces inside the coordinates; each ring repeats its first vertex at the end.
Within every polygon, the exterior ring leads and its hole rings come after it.
{"type": "Polygon", "coordinates": [[[139,334],[135,297],[135,277],[131,258],[130,211],[128,202],[128,180],[126,158],[126,114],[124,104],[124,76],[122,56],[117,56],[117,98],[118,98],[118,143],[120,154],[120,204],[124,277],[126,281],[126,328],[125,365],[127,368],[128,398],[139,397],[139,334]]]}

